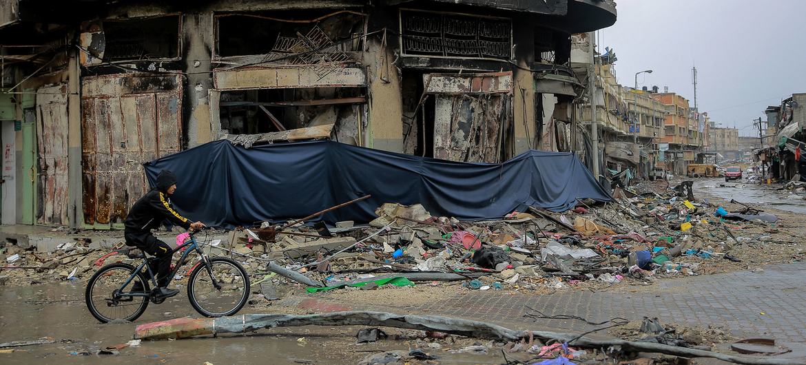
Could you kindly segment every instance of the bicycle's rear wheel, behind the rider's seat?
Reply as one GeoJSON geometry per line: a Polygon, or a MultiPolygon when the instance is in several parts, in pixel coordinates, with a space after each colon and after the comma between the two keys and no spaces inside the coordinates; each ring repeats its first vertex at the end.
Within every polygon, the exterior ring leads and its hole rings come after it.
{"type": "Polygon", "coordinates": [[[148,306],[147,296],[120,295],[121,292],[129,294],[135,292],[134,287],[137,282],[141,284],[141,288],[138,288],[136,292],[150,292],[148,281],[142,272],[137,272],[134,280],[131,280],[123,288],[123,283],[129,279],[135,270],[135,267],[127,263],[112,263],[98,270],[89,279],[84,299],[87,309],[89,309],[89,313],[92,313],[93,317],[101,321],[101,323],[116,319],[134,321],[146,311],[148,306]]]}

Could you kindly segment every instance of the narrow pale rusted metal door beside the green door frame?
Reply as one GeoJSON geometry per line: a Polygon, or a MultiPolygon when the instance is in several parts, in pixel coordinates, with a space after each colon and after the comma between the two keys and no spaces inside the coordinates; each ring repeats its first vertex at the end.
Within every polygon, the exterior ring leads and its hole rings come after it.
{"type": "Polygon", "coordinates": [[[67,85],[39,88],[36,91],[37,224],[68,224],[67,130],[67,85]]]}

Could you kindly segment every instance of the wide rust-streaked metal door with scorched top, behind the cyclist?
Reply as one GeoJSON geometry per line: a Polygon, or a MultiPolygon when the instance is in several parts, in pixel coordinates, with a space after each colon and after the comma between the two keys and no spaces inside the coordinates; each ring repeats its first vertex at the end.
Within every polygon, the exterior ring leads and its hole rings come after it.
{"type": "Polygon", "coordinates": [[[147,191],[141,164],[181,148],[181,78],[85,77],[81,87],[85,226],[119,227],[147,191]]]}

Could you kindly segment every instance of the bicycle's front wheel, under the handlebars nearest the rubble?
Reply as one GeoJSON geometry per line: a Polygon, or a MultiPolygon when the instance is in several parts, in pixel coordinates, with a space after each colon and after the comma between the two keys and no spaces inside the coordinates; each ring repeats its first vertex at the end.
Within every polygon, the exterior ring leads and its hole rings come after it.
{"type": "Polygon", "coordinates": [[[200,263],[188,280],[188,299],[205,317],[231,316],[249,299],[249,275],[228,257],[210,259],[210,270],[200,263]]]}

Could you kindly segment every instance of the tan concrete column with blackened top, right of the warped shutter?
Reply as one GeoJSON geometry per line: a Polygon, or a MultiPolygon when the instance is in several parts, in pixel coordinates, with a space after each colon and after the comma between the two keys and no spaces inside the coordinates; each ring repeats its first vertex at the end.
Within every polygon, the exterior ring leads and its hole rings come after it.
{"type": "Polygon", "coordinates": [[[515,153],[534,147],[537,126],[534,123],[534,76],[530,65],[534,61],[534,23],[527,17],[513,19],[515,60],[513,67],[513,120],[515,122],[515,153]]]}

